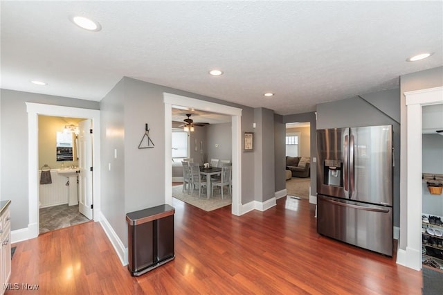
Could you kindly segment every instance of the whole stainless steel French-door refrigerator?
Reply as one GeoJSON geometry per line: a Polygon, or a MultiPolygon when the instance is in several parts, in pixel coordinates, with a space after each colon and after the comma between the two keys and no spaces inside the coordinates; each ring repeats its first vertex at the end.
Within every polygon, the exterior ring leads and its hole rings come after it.
{"type": "Polygon", "coordinates": [[[392,126],[317,130],[317,231],[392,256],[392,126]]]}

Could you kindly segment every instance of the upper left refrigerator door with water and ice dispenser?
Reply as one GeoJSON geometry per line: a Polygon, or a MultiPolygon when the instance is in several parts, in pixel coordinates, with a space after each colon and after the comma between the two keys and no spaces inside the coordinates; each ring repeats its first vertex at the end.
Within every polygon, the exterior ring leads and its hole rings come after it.
{"type": "Polygon", "coordinates": [[[349,197],[349,128],[317,130],[317,193],[349,197]]]}

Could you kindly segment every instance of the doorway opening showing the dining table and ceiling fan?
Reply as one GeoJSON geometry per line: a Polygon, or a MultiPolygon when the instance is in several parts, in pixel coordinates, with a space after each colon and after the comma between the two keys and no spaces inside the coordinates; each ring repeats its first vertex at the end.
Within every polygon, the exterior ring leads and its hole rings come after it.
{"type": "MultiPolygon", "coordinates": [[[[232,204],[230,178],[224,179],[223,185],[219,183],[221,166],[232,168],[231,125],[230,116],[172,107],[172,196],[175,199],[205,211],[232,204]],[[210,165],[210,170],[201,170],[204,165],[210,165]],[[204,175],[208,172],[212,173],[210,177],[204,175]],[[214,181],[218,184],[213,188],[214,181]]],[[[230,168],[225,168],[228,172],[224,177],[230,175],[230,168]]]]}

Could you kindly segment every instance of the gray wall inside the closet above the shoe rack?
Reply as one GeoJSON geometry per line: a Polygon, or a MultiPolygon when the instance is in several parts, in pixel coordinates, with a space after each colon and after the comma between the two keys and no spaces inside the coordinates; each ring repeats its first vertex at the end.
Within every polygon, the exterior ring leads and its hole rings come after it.
{"type": "MultiPolygon", "coordinates": [[[[423,134],[422,136],[422,171],[423,173],[443,175],[443,136],[423,134]]],[[[422,212],[424,214],[443,216],[442,195],[431,195],[423,182],[422,212]]]]}

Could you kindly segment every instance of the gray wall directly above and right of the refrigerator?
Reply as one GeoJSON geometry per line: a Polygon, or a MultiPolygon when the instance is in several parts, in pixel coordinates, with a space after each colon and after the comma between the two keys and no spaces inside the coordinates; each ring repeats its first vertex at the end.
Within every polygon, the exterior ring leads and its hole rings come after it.
{"type": "MultiPolygon", "coordinates": [[[[317,105],[317,129],[392,125],[395,163],[399,163],[399,89],[368,93],[355,98],[317,105]],[[377,102],[377,107],[372,101],[377,102]],[[397,111],[392,107],[397,105],[397,111]],[[385,107],[386,106],[386,107],[385,107]],[[384,113],[386,111],[386,114],[384,113]],[[397,118],[397,120],[395,120],[397,118]]],[[[400,225],[400,168],[394,166],[394,225],[400,225]]]]}

